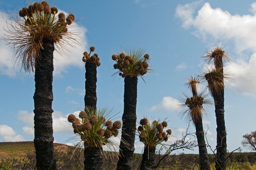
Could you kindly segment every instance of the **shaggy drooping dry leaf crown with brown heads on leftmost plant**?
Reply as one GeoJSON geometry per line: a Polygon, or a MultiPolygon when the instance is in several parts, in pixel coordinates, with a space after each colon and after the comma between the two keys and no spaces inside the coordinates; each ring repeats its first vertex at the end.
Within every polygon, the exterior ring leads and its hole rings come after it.
{"type": "MultiPolygon", "coordinates": [[[[74,46],[79,44],[74,35],[77,32],[68,31],[73,20],[65,22],[65,14],[60,13],[57,17],[58,9],[50,7],[45,1],[30,4],[29,7],[23,7],[19,11],[19,17],[12,17],[7,23],[6,33],[3,37],[7,44],[14,48],[14,56],[22,61],[25,71],[34,70],[35,64],[38,63],[43,49],[44,40],[54,42],[55,49],[59,53],[64,53],[65,45],[74,46]]],[[[67,19],[72,18],[69,14],[67,19]]]]}

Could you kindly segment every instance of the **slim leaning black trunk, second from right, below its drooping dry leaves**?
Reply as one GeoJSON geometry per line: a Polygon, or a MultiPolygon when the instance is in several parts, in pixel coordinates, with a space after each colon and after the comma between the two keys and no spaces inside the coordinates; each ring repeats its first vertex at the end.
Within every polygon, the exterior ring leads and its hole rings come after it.
{"type": "Polygon", "coordinates": [[[197,143],[199,147],[199,163],[200,163],[200,170],[210,170],[210,162],[209,157],[207,154],[206,144],[204,140],[204,129],[202,118],[194,122],[196,127],[196,135],[197,135],[197,143]]]}

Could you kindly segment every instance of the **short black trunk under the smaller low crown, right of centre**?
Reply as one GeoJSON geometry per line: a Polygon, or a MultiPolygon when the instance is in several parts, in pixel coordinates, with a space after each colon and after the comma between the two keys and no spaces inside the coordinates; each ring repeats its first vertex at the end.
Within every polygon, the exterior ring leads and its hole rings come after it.
{"type": "Polygon", "coordinates": [[[140,165],[140,170],[154,170],[155,163],[155,154],[156,147],[145,146],[144,152],[142,155],[142,161],[140,165]]]}

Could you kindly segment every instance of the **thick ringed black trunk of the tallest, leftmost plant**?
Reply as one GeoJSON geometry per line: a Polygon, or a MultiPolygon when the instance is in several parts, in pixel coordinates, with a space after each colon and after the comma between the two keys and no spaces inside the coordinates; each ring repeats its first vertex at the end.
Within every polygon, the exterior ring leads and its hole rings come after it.
{"type": "Polygon", "coordinates": [[[34,123],[36,149],[36,168],[38,170],[56,169],[53,158],[52,130],[52,72],[54,43],[45,41],[42,57],[35,66],[34,123]]]}

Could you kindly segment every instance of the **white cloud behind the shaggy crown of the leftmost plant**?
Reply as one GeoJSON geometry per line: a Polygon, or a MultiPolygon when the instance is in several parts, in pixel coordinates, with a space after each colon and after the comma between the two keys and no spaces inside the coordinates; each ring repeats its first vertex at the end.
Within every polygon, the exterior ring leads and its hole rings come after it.
{"type": "MultiPolygon", "coordinates": [[[[59,10],[60,12],[63,12],[59,10]]],[[[64,12],[67,14],[66,12],[64,12]]],[[[0,37],[3,37],[5,34],[4,28],[7,28],[6,21],[10,22],[8,14],[5,12],[0,11],[0,37]]],[[[81,43],[81,45],[74,45],[74,47],[71,46],[65,46],[66,47],[66,54],[59,54],[55,50],[54,52],[54,71],[53,74],[56,76],[61,76],[62,73],[66,72],[67,68],[70,66],[76,66],[76,67],[83,67],[82,57],[83,57],[83,51],[85,50],[85,47],[87,47],[86,42],[86,28],[78,25],[76,23],[72,24],[73,27],[69,28],[69,31],[76,31],[79,32],[79,36],[77,37],[78,41],[81,43]]],[[[0,51],[1,51],[1,57],[0,57],[0,75],[7,75],[14,77],[18,73],[20,73],[21,70],[21,63],[19,60],[16,61],[15,57],[13,57],[13,49],[11,47],[8,47],[6,45],[6,42],[4,40],[0,39],[0,51]],[[16,61],[16,62],[15,62],[16,61]]]]}

